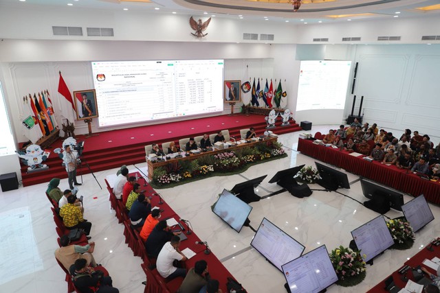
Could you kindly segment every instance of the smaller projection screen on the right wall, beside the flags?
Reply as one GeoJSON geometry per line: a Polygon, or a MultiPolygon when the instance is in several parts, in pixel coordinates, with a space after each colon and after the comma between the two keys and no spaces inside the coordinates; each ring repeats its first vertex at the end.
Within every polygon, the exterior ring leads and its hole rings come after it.
{"type": "Polygon", "coordinates": [[[301,61],[296,120],[340,124],[349,86],[351,61],[301,61]]]}

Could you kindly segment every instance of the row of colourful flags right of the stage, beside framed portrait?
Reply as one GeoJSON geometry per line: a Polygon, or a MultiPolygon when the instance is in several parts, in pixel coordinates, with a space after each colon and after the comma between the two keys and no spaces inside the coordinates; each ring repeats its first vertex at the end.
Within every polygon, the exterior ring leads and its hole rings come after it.
{"type": "Polygon", "coordinates": [[[274,91],[274,86],[272,84],[272,80],[270,80],[270,85],[267,82],[264,86],[260,86],[260,79],[258,84],[255,86],[255,78],[252,83],[252,99],[250,100],[252,106],[260,106],[259,99],[263,99],[264,105],[267,108],[280,108],[281,107],[281,98],[285,97],[287,94],[283,92],[283,86],[281,85],[281,80],[278,82],[278,87],[276,91],[274,91]]]}

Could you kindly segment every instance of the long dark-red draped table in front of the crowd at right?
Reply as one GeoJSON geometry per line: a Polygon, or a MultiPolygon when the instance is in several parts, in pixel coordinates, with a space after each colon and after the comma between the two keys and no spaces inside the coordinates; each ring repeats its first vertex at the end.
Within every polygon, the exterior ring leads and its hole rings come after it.
{"type": "Polygon", "coordinates": [[[366,161],[363,159],[364,155],[353,156],[351,152],[319,145],[308,139],[298,139],[298,152],[406,194],[423,194],[429,202],[440,204],[440,180],[424,180],[412,172],[398,169],[395,165],[366,161]]]}

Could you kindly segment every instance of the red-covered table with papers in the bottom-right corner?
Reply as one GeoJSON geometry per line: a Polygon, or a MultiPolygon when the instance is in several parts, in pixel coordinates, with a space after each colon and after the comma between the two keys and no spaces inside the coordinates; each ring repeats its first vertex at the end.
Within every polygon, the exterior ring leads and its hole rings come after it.
{"type": "MultiPolygon", "coordinates": [[[[422,264],[422,262],[425,259],[432,259],[434,257],[440,257],[440,246],[432,246],[432,249],[434,251],[430,251],[427,248],[423,248],[419,251],[419,253],[417,253],[416,255],[411,257],[410,259],[408,259],[408,261],[405,261],[404,265],[410,267],[410,269],[406,272],[406,274],[400,274],[399,273],[400,268],[399,268],[398,270],[393,272],[393,274],[390,275],[390,276],[393,276],[394,283],[397,287],[405,288],[407,281],[404,281],[404,279],[402,278],[404,276],[406,278],[410,279],[411,281],[415,281],[411,268],[417,268],[417,266],[424,266],[425,268],[428,269],[428,271],[430,271],[431,274],[436,274],[436,272],[434,270],[432,270],[432,268],[429,268],[428,266],[425,266],[422,264]]],[[[403,267],[403,265],[401,266],[401,268],[402,267],[403,267]]],[[[390,277],[390,276],[388,276],[388,277],[390,277]]],[[[424,276],[427,277],[426,274],[424,274],[424,276]]],[[[380,283],[375,285],[373,288],[371,288],[371,290],[369,290],[368,293],[388,292],[385,289],[385,280],[388,279],[388,277],[386,277],[383,281],[381,281],[380,283]]]]}

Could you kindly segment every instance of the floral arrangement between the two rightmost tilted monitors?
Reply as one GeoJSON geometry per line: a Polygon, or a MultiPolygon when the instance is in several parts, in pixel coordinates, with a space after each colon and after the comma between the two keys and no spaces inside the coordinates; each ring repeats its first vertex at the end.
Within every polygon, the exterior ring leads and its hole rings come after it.
{"type": "Polygon", "coordinates": [[[415,235],[410,223],[405,218],[396,218],[386,222],[386,226],[393,236],[394,244],[391,249],[405,250],[414,244],[415,235]]]}

